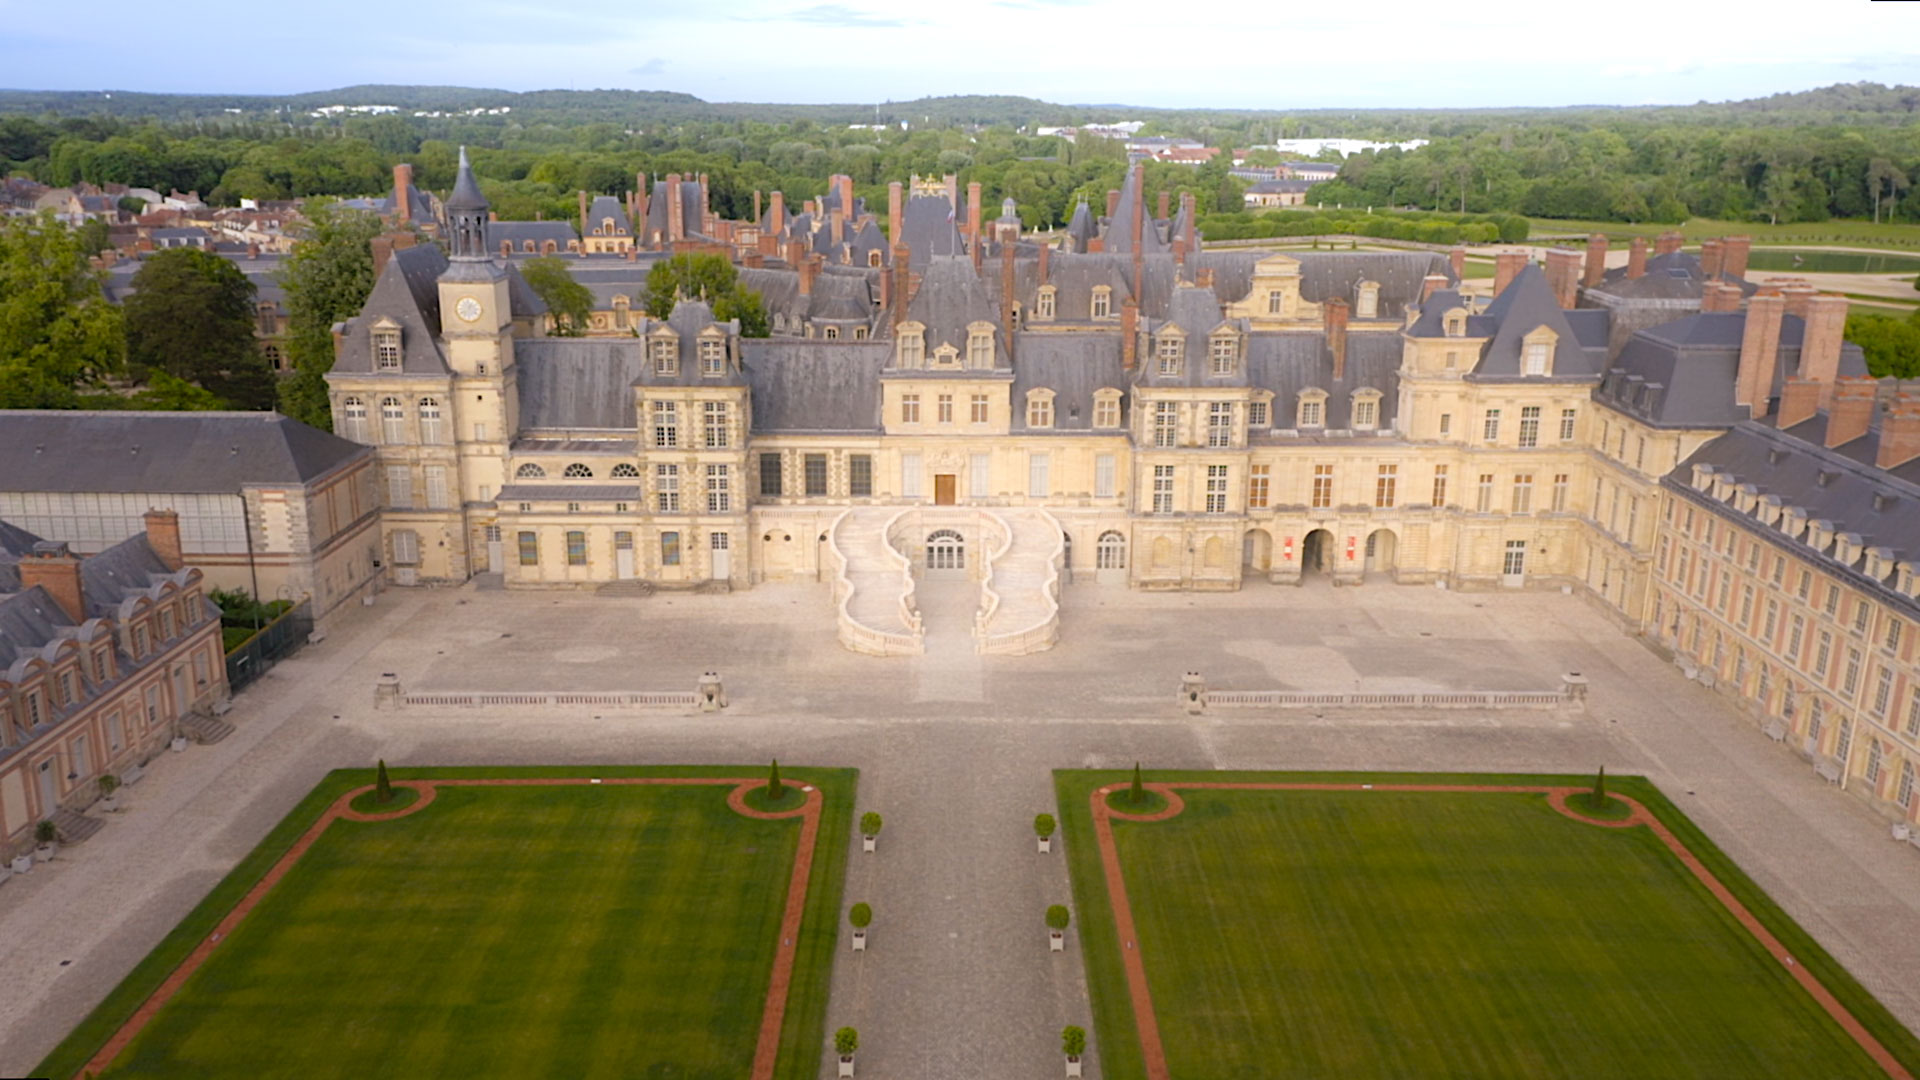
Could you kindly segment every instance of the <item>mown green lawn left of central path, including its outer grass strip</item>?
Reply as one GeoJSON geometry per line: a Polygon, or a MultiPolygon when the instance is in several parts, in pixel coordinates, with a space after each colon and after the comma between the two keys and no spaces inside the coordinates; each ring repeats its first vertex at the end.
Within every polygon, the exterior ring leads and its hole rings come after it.
{"type": "MultiPolygon", "coordinates": [[[[530,771],[424,774],[478,773],[530,771]]],[[[323,792],[367,780],[330,776],[40,1072],[71,1076],[204,936],[188,924],[230,909],[323,792]]],[[[799,1078],[824,1040],[854,776],[787,780],[828,796],[781,1032],[780,1076],[799,1078]]],[[[109,1076],[745,1076],[801,821],[745,819],[728,790],[440,788],[411,817],[336,821],[109,1076]]]]}

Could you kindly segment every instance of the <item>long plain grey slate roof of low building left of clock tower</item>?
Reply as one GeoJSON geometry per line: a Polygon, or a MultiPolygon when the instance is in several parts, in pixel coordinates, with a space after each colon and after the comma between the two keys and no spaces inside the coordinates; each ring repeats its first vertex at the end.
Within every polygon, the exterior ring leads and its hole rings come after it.
{"type": "Polygon", "coordinates": [[[371,454],[280,413],[0,411],[8,492],[230,494],[305,484],[371,454]]]}

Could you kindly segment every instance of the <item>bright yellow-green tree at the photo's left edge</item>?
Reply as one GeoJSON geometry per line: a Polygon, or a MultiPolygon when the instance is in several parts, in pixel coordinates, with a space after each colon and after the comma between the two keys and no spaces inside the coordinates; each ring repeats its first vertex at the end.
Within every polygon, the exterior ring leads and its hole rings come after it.
{"type": "Polygon", "coordinates": [[[0,225],[0,407],[71,409],[127,356],[121,311],[52,213],[0,225]]]}

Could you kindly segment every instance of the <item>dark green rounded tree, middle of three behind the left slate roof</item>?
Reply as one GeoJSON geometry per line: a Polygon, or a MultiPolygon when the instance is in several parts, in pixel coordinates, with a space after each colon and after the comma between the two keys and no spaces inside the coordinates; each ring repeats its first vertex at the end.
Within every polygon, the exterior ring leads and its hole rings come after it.
{"type": "Polygon", "coordinates": [[[127,373],[165,371],[240,409],[273,407],[273,369],[253,340],[253,282],[198,248],[156,252],[132,275],[127,373]]]}

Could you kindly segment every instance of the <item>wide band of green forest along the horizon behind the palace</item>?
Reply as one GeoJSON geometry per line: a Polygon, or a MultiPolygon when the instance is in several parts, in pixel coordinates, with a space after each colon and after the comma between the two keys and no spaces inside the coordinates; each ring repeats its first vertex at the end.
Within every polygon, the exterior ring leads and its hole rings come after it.
{"type": "MultiPolygon", "coordinates": [[[[1117,142],[1029,135],[1041,125],[1142,119],[1146,135],[1235,148],[1273,138],[1428,138],[1348,158],[1309,200],[1628,223],[1716,217],[1920,221],[1920,86],[1836,85],[1747,102],[1521,110],[1150,110],[956,96],[889,104],[714,104],[643,90],[349,86],[294,96],[0,90],[0,169],[42,183],[127,183],[240,198],[384,192],[396,161],[447,188],[455,148],[501,217],[570,217],[574,190],[626,192],[636,173],[708,173],[714,209],[789,200],[847,173],[876,200],[908,173],[958,173],[1014,198],[1029,227],[1098,202],[1125,169],[1117,142]],[[323,106],[397,106],[315,117],[323,106]],[[463,115],[470,110],[511,110],[463,115]],[[451,115],[413,115],[440,111],[451,115]],[[885,125],[854,129],[849,125],[885,125]],[[900,123],[908,129],[902,131],[900,123]]],[[[1260,156],[1277,161],[1277,156],[1260,156]]],[[[1150,194],[1194,190],[1238,209],[1225,161],[1158,165],[1150,194]]]]}

